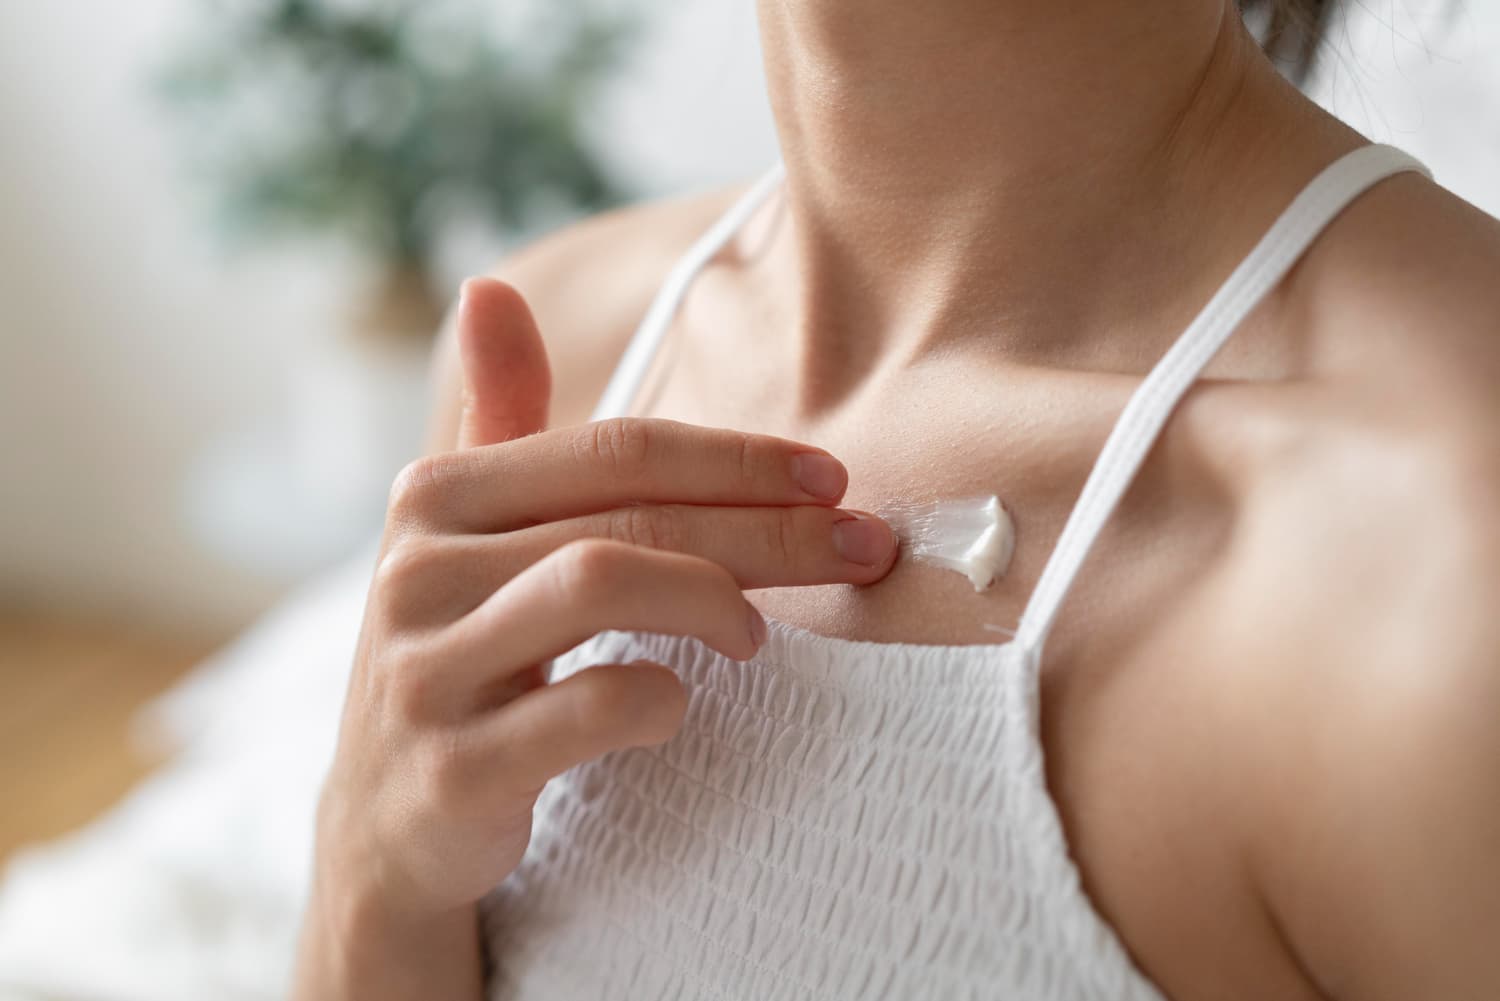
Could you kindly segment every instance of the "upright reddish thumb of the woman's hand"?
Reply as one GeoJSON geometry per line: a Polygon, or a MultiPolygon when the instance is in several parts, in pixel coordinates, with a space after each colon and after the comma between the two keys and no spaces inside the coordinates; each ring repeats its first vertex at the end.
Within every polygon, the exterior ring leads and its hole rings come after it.
{"type": "Polygon", "coordinates": [[[492,278],[464,282],[458,341],[464,369],[459,447],[500,444],[543,431],[552,369],[520,293],[492,278]]]}

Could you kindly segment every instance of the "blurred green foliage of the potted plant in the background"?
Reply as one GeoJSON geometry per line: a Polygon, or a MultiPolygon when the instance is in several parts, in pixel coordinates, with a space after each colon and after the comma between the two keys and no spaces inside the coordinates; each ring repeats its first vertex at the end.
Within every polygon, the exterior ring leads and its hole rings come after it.
{"type": "Polygon", "coordinates": [[[160,90],[236,234],[338,231],[430,275],[456,219],[514,233],[621,198],[582,135],[636,24],[621,3],[195,6],[160,90]]]}

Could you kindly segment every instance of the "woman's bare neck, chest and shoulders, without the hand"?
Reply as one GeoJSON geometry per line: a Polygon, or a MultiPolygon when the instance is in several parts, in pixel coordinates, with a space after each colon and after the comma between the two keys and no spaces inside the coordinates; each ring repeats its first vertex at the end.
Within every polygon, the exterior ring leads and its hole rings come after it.
{"type": "MultiPolygon", "coordinates": [[[[856,509],[999,492],[1020,539],[987,594],[902,563],[752,594],[834,636],[994,642],[1140,377],[1364,138],[1208,0],[916,9],[762,5],[788,192],[694,288],[636,413],[826,449],[856,509]]],[[[506,266],[555,426],[586,419],[726,204],[594,221],[506,266]]],[[[1059,617],[1052,791],[1095,905],[1172,998],[1494,996],[1497,273],[1484,213],[1412,174],[1366,192],[1190,392],[1059,617]]],[[[438,371],[458,384],[454,353],[438,371]]],[[[428,927],[471,945],[465,920],[428,927]]]]}

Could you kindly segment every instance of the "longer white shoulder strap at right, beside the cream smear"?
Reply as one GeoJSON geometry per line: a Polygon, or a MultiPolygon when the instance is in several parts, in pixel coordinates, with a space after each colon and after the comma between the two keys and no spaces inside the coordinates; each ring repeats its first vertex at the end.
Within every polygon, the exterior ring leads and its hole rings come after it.
{"type": "Polygon", "coordinates": [[[1362,146],[1324,168],[1281,213],[1131,395],[1022,614],[1016,642],[1029,654],[1032,671],[1041,665],[1041,650],[1058,609],[1104,524],[1198,372],[1348,203],[1374,183],[1402,171],[1432,176],[1412,155],[1384,144],[1362,146]]]}

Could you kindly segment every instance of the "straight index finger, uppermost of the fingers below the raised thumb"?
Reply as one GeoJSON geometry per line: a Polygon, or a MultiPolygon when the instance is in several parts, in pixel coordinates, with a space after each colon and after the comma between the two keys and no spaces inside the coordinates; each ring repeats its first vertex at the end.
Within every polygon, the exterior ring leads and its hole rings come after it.
{"type": "Polygon", "coordinates": [[[492,533],[630,504],[837,504],[849,485],[822,449],[675,420],[618,417],[418,459],[392,510],[492,533]]]}

